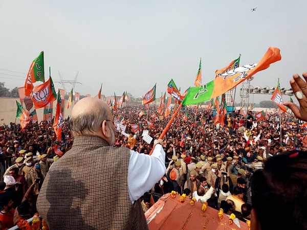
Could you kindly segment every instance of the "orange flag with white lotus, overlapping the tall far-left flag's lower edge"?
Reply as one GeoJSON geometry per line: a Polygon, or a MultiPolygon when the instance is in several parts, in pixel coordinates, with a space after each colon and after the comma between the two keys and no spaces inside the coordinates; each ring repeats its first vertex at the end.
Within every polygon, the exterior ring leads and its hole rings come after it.
{"type": "Polygon", "coordinates": [[[51,77],[45,83],[35,86],[31,100],[35,109],[42,108],[56,100],[56,93],[51,77]]]}

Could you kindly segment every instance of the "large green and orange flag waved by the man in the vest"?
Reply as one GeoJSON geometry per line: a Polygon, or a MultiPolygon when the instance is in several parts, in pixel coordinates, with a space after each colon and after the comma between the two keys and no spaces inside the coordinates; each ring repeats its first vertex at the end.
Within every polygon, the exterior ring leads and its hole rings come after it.
{"type": "Polygon", "coordinates": [[[280,59],[280,50],[270,47],[258,64],[255,63],[237,67],[205,85],[191,87],[189,93],[183,100],[183,105],[201,103],[222,95],[257,72],[265,70],[270,64],[280,59]]]}

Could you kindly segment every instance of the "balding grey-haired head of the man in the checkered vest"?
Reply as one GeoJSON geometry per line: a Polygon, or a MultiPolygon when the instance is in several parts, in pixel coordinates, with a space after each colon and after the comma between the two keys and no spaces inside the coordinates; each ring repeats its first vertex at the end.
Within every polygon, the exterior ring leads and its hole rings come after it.
{"type": "MultiPolygon", "coordinates": [[[[98,135],[106,120],[113,122],[112,112],[108,105],[98,98],[83,98],[72,110],[70,119],[74,136],[98,135]]],[[[109,124],[111,125],[111,124],[109,124]]]]}

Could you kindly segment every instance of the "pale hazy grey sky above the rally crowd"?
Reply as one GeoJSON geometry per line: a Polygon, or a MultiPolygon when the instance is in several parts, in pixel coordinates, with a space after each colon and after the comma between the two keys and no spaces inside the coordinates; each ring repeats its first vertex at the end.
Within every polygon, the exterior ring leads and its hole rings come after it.
{"type": "Polygon", "coordinates": [[[96,95],[102,83],[106,96],[140,97],[157,83],[158,98],[171,78],[182,91],[192,86],[201,57],[207,83],[239,54],[241,65],[258,63],[272,46],[281,61],[251,84],[273,87],[280,78],[290,88],[292,75],[307,71],[306,9],[306,0],[1,1],[0,82],[23,86],[44,51],[46,79],[49,66],[54,81],[58,71],[67,80],[79,71],[81,95],[96,95]]]}

